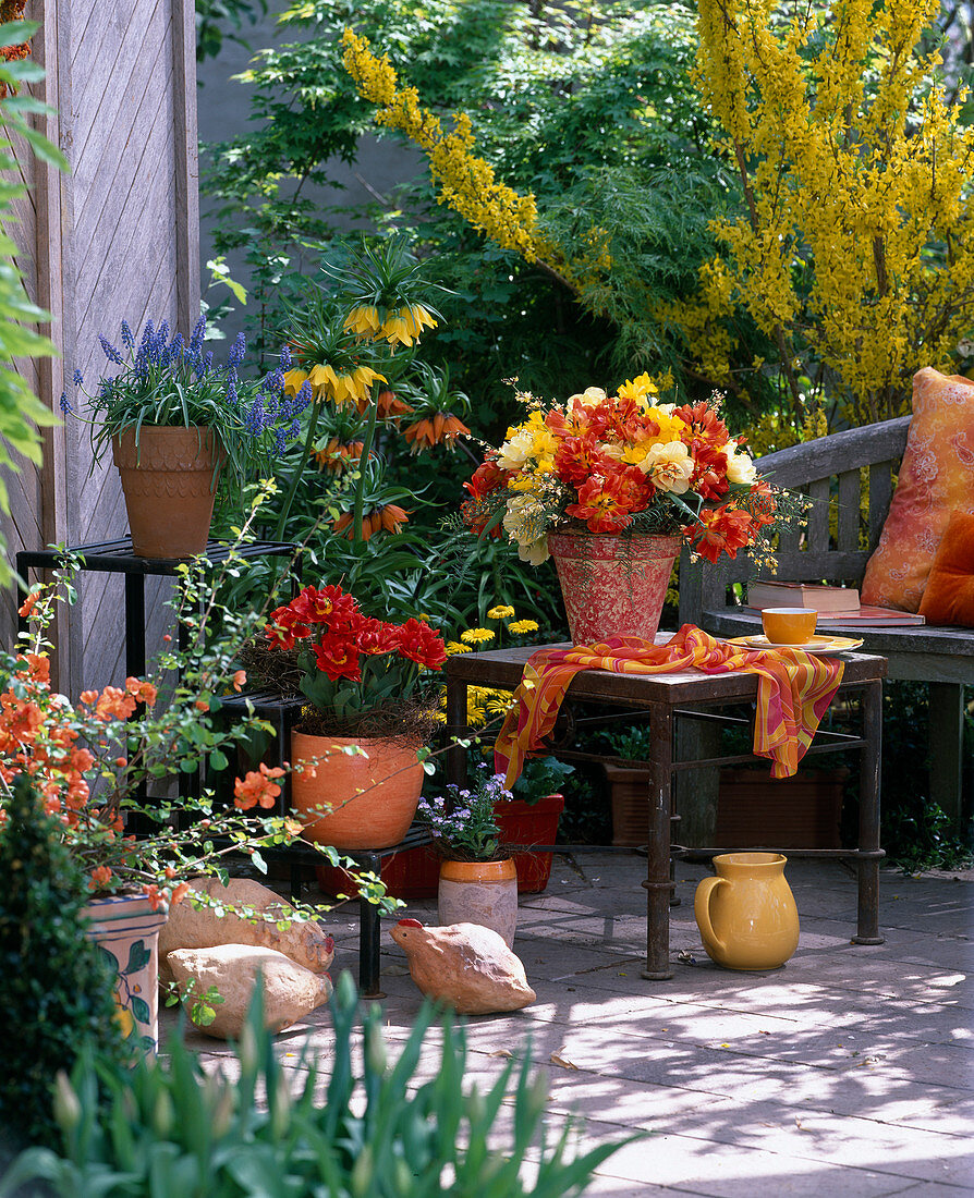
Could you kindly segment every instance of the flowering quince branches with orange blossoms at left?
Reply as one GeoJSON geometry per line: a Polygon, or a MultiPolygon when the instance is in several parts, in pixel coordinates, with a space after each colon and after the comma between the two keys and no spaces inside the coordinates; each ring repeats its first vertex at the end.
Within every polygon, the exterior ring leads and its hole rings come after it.
{"type": "MultiPolygon", "coordinates": [[[[89,689],[77,703],[52,689],[44,634],[55,604],[65,601],[62,592],[69,589],[74,568],[69,559],[55,571],[53,586],[31,588],[20,607],[30,621],[30,631],[20,637],[22,651],[0,657],[0,836],[11,785],[29,774],[47,812],[60,821],[65,842],[93,891],[134,887],[153,906],[177,902],[193,875],[214,873],[226,881],[222,863],[229,854],[244,853],[264,870],[262,848],[301,837],[298,821],[265,813],[280,793],[280,768],[261,764],[237,779],[236,810],[230,812],[214,813],[208,795],[158,799],[152,806],[135,798],[146,780],[192,774],[204,760],[225,769],[228,749],[254,730],[272,731],[253,714],[231,726],[213,725],[220,696],[246,683],[246,673],[235,668],[237,651],[262,617],[220,607],[213,598],[219,580],[206,582],[207,565],[198,561],[186,567],[179,615],[189,645],[182,653],[159,657],[156,680],[127,678],[123,688],[89,689]],[[207,636],[208,623],[223,624],[225,639],[207,636]],[[181,671],[181,680],[165,692],[162,678],[170,670],[181,671]],[[131,813],[153,819],[158,830],[139,839],[128,834],[125,821],[131,813]],[[194,822],[176,828],[175,817],[187,813],[194,822]]],[[[232,553],[220,567],[236,568],[232,553]]],[[[338,864],[334,849],[319,851],[338,864]]],[[[367,890],[379,900],[385,893],[377,887],[367,890]]]]}

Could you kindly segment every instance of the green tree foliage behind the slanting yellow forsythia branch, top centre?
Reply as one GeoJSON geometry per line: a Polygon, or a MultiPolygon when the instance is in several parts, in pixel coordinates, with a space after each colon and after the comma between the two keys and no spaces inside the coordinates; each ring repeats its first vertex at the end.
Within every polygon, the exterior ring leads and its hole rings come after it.
{"type": "Polygon", "coordinates": [[[435,258],[455,292],[441,305],[438,352],[480,419],[496,422],[484,431],[502,431],[503,379],[567,394],[673,358],[651,308],[695,285],[713,254],[708,222],[728,190],[703,150],[709,123],[688,79],[688,7],[310,0],[294,4],[283,24],[302,40],[261,52],[246,72],[254,129],[213,147],[205,181],[224,213],[218,248],[248,250],[260,311],[289,290],[300,296],[334,217],[349,214],[340,195],[323,206],[309,196],[333,187],[328,161],[355,162],[367,131],[397,137],[373,129],[373,108],[341,66],[339,37],[353,25],[388,52],[424,107],[470,115],[478,153],[506,183],[537,195],[544,232],[567,258],[612,260],[607,274],[582,271],[565,286],[485,243],[437,202],[422,167],[397,195],[355,213],[409,226],[435,258]]]}

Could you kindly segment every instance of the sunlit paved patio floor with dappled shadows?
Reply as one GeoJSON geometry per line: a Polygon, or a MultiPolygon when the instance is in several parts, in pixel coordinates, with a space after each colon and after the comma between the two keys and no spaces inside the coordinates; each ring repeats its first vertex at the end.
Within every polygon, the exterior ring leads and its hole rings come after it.
{"type": "MultiPolygon", "coordinates": [[[[556,857],[548,890],[521,900],[514,942],[538,1000],[467,1019],[467,1084],[489,1084],[507,1055],[530,1052],[549,1076],[552,1124],[574,1112],[581,1146],[648,1132],[600,1167],[587,1194],[974,1191],[974,873],[884,871],[887,942],[859,946],[852,875],[790,861],[798,951],[781,969],[736,973],[701,946],[692,897],[707,872],[678,865],[676,976],[651,982],[640,976],[645,859],[556,857]]],[[[435,922],[435,902],[403,914],[435,922]]],[[[338,908],[329,930],[334,972],[357,975],[355,913],[338,908]]],[[[386,931],[382,988],[394,1055],[421,996],[386,931]]],[[[308,1034],[327,1071],[327,1008],[279,1037],[285,1061],[308,1034]]],[[[219,1041],[193,1034],[192,1043],[225,1061],[219,1041]]]]}

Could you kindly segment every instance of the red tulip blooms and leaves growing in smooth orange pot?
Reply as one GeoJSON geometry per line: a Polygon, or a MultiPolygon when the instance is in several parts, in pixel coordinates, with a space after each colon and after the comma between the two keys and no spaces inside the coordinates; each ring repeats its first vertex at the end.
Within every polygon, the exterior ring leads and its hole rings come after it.
{"type": "Polygon", "coordinates": [[[266,647],[297,654],[298,685],[317,718],[311,732],[368,734],[385,714],[406,722],[423,671],[447,660],[443,639],[411,617],[391,624],[363,615],[339,586],[305,587],[271,613],[266,647]]]}

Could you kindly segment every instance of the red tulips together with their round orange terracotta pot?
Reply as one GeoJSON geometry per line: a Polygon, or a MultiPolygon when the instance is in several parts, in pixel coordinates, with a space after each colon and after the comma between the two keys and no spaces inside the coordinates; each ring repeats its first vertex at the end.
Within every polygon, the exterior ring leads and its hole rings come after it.
{"type": "Polygon", "coordinates": [[[243,660],[309,701],[291,731],[291,797],[309,839],[344,852],[403,839],[435,720],[423,680],[446,659],[429,624],[367,616],[339,586],[304,587],[271,613],[243,660]]]}

